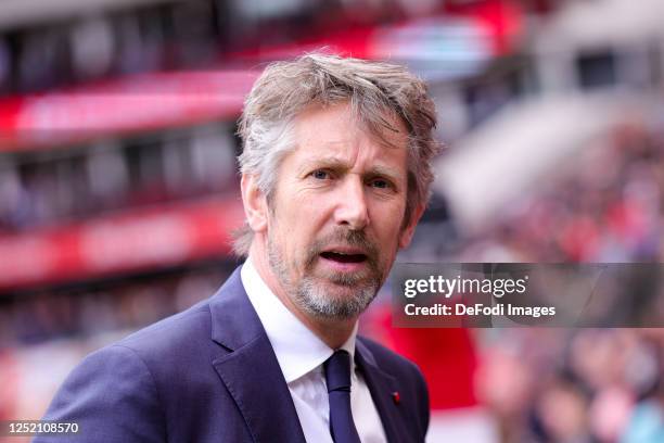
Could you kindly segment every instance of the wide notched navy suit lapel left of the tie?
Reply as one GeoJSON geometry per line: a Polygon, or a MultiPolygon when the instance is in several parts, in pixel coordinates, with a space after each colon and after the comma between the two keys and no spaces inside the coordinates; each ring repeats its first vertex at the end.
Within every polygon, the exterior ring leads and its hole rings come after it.
{"type": "Polygon", "coordinates": [[[229,352],[213,366],[254,441],[305,443],[274,351],[240,279],[240,268],[210,301],[213,340],[229,352]]]}

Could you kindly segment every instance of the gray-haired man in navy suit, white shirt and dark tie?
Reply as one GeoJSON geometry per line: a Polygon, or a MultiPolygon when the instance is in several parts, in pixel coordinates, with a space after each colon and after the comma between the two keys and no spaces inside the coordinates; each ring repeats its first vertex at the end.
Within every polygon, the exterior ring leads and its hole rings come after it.
{"type": "Polygon", "coordinates": [[[423,441],[421,374],[356,332],[424,211],[434,126],[400,66],[268,66],[240,122],[246,262],[212,299],[88,356],[44,417],[80,431],[53,441],[423,441]]]}

